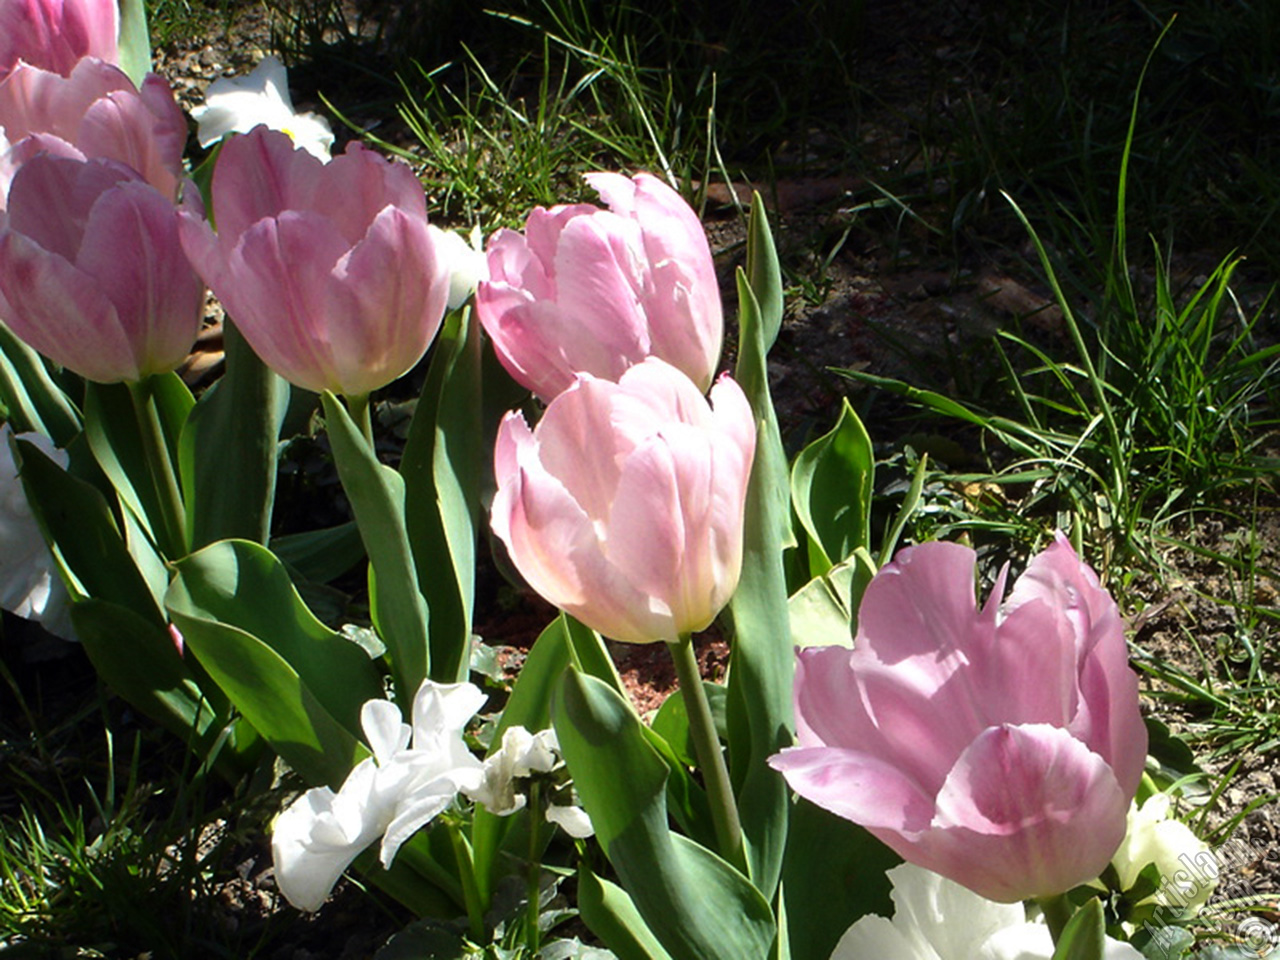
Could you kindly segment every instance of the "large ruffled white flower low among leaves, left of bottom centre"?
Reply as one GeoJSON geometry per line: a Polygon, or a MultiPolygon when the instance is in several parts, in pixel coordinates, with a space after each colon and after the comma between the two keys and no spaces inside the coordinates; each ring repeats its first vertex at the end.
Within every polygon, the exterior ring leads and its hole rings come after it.
{"type": "Polygon", "coordinates": [[[337,794],[315,787],[275,820],[275,882],[300,910],[319,910],[342,872],[379,837],[383,867],[401,845],[481,781],[481,764],[462,731],[485,695],[472,684],[422,681],[413,726],[396,704],[369,700],[360,722],[372,756],[361,760],[337,794]]]}

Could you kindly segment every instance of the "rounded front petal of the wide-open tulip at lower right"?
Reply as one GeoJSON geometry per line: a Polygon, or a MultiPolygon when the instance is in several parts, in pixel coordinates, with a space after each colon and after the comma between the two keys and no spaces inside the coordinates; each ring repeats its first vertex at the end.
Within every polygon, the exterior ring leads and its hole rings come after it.
{"type": "Polygon", "coordinates": [[[933,828],[905,849],[991,900],[1050,896],[1106,868],[1128,806],[1106,760],[1065,730],[993,727],[948,774],[933,828]]]}

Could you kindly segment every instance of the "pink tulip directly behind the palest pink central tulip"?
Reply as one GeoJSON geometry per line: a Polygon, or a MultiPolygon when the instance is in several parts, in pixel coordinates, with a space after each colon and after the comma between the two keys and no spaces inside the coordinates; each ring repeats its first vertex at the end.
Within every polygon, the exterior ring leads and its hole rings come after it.
{"type": "Polygon", "coordinates": [[[476,311],[502,365],[544,401],[577,372],[617,380],[649,356],[705,390],[723,316],[698,216],[649,174],[591,173],[609,210],[536,207],[489,243],[476,311]]]}

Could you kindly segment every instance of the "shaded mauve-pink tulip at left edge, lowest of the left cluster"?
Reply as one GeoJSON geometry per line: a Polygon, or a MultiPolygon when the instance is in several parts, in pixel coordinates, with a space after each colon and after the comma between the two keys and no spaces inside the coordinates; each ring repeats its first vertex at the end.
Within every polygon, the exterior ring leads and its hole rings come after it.
{"type": "Polygon", "coordinates": [[[128,166],[44,154],[0,211],[0,319],[37,351],[101,383],[173,370],[205,289],[169,197],[128,166]]]}

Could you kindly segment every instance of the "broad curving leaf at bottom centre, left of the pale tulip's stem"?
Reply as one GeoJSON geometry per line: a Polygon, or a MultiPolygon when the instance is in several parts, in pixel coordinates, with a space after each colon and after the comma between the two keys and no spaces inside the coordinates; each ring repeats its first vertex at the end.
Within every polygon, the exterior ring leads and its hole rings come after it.
{"type": "Polygon", "coordinates": [[[622,696],[568,669],[552,707],[561,749],[596,840],[673,960],[755,960],[774,937],[750,881],[667,826],[667,764],[622,696]]]}

